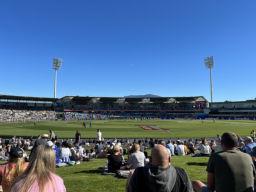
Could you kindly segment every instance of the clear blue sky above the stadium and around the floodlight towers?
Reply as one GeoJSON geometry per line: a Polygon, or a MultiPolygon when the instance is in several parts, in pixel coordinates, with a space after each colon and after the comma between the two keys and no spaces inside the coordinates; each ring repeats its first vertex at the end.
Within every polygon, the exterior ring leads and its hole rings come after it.
{"type": "Polygon", "coordinates": [[[1,1],[0,94],[256,97],[256,1],[1,1]]]}

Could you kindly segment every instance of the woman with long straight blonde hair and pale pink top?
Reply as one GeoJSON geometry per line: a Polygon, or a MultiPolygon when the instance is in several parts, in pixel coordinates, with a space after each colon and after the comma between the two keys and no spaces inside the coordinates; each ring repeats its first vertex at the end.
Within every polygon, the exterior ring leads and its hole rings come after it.
{"type": "Polygon", "coordinates": [[[32,153],[27,169],[20,174],[10,192],[66,192],[63,180],[55,174],[55,153],[49,145],[39,145],[32,153]]]}

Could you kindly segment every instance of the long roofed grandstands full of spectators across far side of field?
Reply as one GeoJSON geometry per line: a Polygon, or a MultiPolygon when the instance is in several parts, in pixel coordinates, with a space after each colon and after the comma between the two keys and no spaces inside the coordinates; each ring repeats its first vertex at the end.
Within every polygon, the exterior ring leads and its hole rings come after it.
{"type": "Polygon", "coordinates": [[[42,98],[0,95],[0,119],[255,119],[256,100],[208,101],[197,97],[83,97],[42,98]]]}

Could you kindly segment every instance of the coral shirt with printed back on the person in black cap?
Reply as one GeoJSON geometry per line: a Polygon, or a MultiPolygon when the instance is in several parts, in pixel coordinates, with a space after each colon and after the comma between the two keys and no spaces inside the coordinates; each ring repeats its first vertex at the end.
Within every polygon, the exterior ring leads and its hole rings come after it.
{"type": "MultiPolygon", "coordinates": [[[[28,166],[28,163],[24,164],[23,170],[26,169],[28,166]]],[[[0,167],[0,181],[3,186],[3,192],[8,192],[8,189],[10,188],[12,181],[16,179],[16,164],[12,163],[4,163],[0,167]]]]}

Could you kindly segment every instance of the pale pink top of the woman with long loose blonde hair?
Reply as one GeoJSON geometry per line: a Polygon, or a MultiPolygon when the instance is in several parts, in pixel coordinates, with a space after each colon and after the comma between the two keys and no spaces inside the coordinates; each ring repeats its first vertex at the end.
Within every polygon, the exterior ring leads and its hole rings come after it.
{"type": "MultiPolygon", "coordinates": [[[[51,182],[48,183],[49,185],[45,185],[44,191],[45,192],[48,192],[48,191],[51,191],[51,192],[67,192],[66,187],[63,183],[63,180],[58,175],[55,175],[55,174],[51,173],[51,176],[52,176],[53,182],[55,183],[55,191],[53,191],[53,187],[51,185],[51,182]]],[[[23,180],[19,181],[18,185],[13,190],[14,192],[20,192],[19,186],[22,182],[23,182],[23,180]]],[[[38,186],[38,183],[36,182],[28,189],[27,192],[37,192],[37,191],[39,191],[39,186],[38,186]]]]}

